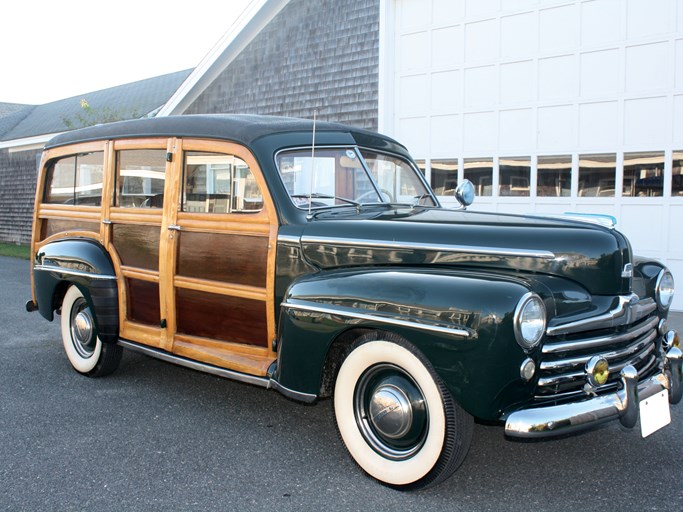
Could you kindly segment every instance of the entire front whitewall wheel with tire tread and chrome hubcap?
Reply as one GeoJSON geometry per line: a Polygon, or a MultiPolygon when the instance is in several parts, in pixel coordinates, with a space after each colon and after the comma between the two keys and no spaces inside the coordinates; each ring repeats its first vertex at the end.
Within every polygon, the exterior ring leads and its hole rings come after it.
{"type": "Polygon", "coordinates": [[[387,338],[361,338],[343,361],[334,391],[337,428],[351,457],[383,484],[436,485],[465,459],[474,420],[415,347],[387,338]]]}

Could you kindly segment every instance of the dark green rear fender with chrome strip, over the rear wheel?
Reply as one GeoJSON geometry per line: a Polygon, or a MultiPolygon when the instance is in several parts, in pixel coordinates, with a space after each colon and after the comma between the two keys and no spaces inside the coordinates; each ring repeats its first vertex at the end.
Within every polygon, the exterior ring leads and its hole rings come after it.
{"type": "Polygon", "coordinates": [[[78,286],[94,310],[95,327],[103,342],[116,342],[119,329],[116,272],[109,254],[87,238],[58,240],[36,253],[33,280],[38,311],[54,319],[64,287],[78,286]]]}

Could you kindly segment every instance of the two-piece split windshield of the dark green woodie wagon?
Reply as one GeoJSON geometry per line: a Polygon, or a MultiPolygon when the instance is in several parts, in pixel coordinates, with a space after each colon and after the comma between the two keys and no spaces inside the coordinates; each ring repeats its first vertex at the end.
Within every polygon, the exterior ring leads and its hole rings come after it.
{"type": "Polygon", "coordinates": [[[278,170],[299,208],[348,204],[402,203],[436,206],[431,192],[407,161],[355,148],[282,152],[278,170]],[[362,156],[361,156],[362,155],[362,156]],[[310,204],[309,204],[310,202],[310,204]]]}

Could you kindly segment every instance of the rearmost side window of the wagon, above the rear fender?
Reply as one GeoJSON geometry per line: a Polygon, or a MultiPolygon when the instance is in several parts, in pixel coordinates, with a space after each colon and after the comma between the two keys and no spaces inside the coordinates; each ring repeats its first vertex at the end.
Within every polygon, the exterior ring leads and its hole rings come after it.
{"type": "Polygon", "coordinates": [[[81,153],[56,160],[48,169],[43,202],[100,206],[104,153],[81,153]]]}

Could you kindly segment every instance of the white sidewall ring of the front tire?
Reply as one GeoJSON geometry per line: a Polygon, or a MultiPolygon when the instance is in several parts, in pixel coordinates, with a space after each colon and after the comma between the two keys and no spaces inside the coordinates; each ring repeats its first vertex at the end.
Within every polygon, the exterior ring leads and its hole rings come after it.
{"type": "Polygon", "coordinates": [[[425,477],[437,464],[446,438],[446,414],[439,386],[429,369],[408,348],[389,341],[368,341],[344,360],[337,375],[334,411],[339,433],[356,463],[369,475],[390,485],[408,485],[425,477]],[[390,460],[377,453],[363,437],[354,413],[358,380],[379,363],[398,366],[411,376],[422,392],[428,409],[429,427],[424,444],[413,456],[390,460]]]}

